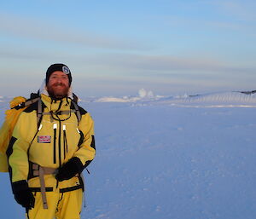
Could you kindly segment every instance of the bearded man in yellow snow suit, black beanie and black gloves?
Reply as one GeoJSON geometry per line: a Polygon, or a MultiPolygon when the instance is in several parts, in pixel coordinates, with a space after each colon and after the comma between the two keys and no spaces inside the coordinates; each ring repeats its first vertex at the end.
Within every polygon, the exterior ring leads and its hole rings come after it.
{"type": "Polygon", "coordinates": [[[15,200],[30,219],[79,219],[81,172],[95,157],[90,114],[73,100],[72,75],[49,66],[38,101],[15,124],[7,150],[15,200]]]}

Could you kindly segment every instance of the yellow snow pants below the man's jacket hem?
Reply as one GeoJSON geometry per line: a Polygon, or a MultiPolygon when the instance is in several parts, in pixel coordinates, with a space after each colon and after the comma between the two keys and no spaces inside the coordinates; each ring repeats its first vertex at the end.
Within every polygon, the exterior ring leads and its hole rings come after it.
{"type": "Polygon", "coordinates": [[[34,193],[35,206],[26,213],[26,219],[80,219],[83,202],[82,188],[60,193],[47,192],[48,209],[43,208],[40,192],[34,193]]]}

